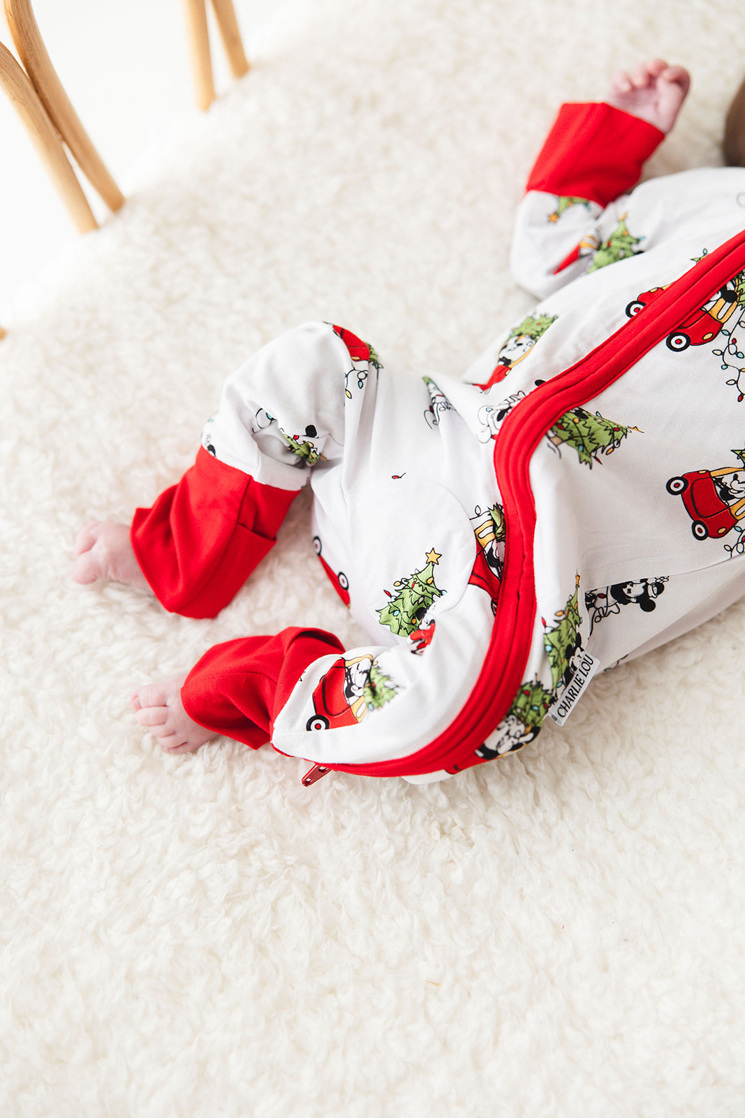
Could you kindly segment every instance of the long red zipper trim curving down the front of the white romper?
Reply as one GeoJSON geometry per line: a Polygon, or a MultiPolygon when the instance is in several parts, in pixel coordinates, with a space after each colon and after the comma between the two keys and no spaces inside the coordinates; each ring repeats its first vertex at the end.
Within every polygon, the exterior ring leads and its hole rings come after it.
{"type": "Polygon", "coordinates": [[[370,765],[333,765],[333,769],[365,776],[414,776],[445,768],[468,768],[478,762],[475,750],[503,720],[523,683],[533,639],[536,513],[529,466],[534,451],[570,408],[591,400],[623,376],[671,333],[681,319],[703,306],[744,268],[745,231],[742,231],[670,284],[655,301],[653,315],[647,309],[640,311],[589,354],[534,389],[513,408],[495,440],[494,465],[507,534],[497,613],[478,680],[458,718],[416,754],[370,765]]]}

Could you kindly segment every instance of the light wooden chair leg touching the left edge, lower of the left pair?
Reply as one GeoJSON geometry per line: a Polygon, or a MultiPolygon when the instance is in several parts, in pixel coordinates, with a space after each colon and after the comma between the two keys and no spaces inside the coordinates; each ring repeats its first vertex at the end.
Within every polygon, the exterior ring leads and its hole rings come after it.
{"type": "Polygon", "coordinates": [[[57,131],[29,78],[0,42],[0,86],[12,102],[41,157],[78,233],[97,228],[87,199],[69,164],[57,131]]]}

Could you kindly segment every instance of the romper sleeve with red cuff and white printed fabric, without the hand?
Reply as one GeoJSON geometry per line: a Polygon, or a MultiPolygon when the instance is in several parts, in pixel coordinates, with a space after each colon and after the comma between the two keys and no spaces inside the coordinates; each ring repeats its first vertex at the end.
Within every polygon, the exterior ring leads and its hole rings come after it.
{"type": "Polygon", "coordinates": [[[510,265],[543,299],[586,272],[665,133],[604,103],[562,105],[517,212],[510,265]]]}

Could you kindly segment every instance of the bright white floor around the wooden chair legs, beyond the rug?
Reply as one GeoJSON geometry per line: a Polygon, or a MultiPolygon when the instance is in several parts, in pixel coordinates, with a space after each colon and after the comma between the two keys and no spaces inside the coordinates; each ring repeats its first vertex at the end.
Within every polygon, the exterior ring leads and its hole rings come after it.
{"type": "MultiPolygon", "coordinates": [[[[286,0],[235,0],[249,58],[261,28],[286,0]]],[[[208,9],[210,4],[208,3],[208,9]]],[[[120,187],[137,157],[195,113],[180,0],[35,0],[59,77],[120,187]]],[[[13,49],[0,23],[0,41],[13,49]]],[[[211,21],[218,92],[230,80],[211,21]]],[[[0,322],[12,319],[25,286],[77,234],[10,102],[0,95],[0,322]]],[[[105,216],[95,196],[94,212],[105,216]]]]}

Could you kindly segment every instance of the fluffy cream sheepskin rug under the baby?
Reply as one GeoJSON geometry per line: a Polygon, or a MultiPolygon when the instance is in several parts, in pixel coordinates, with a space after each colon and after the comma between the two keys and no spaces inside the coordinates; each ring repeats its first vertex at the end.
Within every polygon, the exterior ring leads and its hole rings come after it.
{"type": "MultiPolygon", "coordinates": [[[[69,579],[77,529],[190,465],[223,378],[341,322],[457,375],[562,100],[639,57],[693,92],[651,161],[719,161],[728,0],[319,0],[143,153],[121,214],[0,345],[0,1112],[739,1118],[745,601],[593,681],[563,729],[442,784],[226,740],[168,757],[134,686],[241,634],[362,634],[308,504],[216,620],[69,579]]],[[[744,411],[745,420],[745,411],[744,411]]]]}

